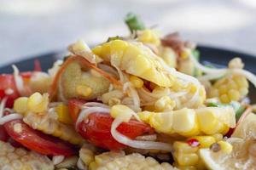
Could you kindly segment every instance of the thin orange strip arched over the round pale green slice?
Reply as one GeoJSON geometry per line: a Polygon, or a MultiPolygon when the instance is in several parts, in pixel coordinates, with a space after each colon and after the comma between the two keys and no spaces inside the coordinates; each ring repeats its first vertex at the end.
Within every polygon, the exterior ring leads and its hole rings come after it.
{"type": "Polygon", "coordinates": [[[102,71],[101,69],[99,69],[98,67],[96,67],[96,65],[91,64],[87,59],[85,59],[84,57],[80,56],[80,55],[73,55],[72,57],[69,57],[62,65],[60,70],[56,73],[54,81],[52,82],[51,87],[49,88],[49,99],[52,100],[55,96],[56,93],[56,89],[58,86],[58,81],[61,78],[62,73],[66,70],[67,66],[69,64],[71,64],[74,61],[79,61],[80,65],[86,65],[94,70],[96,70],[98,73],[100,73],[102,75],[102,77],[107,78],[110,82],[113,82],[116,85],[122,85],[121,82],[119,82],[118,80],[116,80],[114,77],[111,77],[110,75],[108,75],[107,72],[102,71]]]}

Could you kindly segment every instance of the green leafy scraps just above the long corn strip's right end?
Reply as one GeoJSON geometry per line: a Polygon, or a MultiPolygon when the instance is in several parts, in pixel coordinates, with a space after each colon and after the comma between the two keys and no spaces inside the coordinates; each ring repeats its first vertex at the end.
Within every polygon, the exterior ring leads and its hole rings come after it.
{"type": "Polygon", "coordinates": [[[231,106],[233,107],[235,113],[236,113],[236,122],[239,120],[241,117],[242,113],[246,110],[245,106],[241,105],[240,103],[236,101],[231,101],[230,104],[221,104],[217,102],[210,102],[207,105],[208,107],[226,107],[226,106],[231,106]]]}

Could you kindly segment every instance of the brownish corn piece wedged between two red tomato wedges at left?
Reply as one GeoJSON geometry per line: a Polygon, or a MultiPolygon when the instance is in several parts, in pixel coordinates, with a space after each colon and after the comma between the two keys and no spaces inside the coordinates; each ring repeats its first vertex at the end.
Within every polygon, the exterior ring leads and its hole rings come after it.
{"type": "Polygon", "coordinates": [[[71,144],[83,143],[83,139],[72,126],[58,122],[55,117],[51,117],[51,113],[35,114],[31,112],[24,116],[23,121],[34,129],[58,137],[71,144]]]}

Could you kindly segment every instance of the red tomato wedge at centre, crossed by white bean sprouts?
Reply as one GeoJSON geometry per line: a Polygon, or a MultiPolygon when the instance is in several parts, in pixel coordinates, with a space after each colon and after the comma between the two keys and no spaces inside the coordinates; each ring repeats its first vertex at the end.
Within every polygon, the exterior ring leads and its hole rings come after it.
{"type": "MultiPolygon", "coordinates": [[[[80,99],[71,99],[68,102],[69,111],[75,121],[77,116],[79,116],[80,107],[83,104],[84,101],[80,99]]],[[[83,122],[79,123],[78,133],[84,139],[90,141],[90,143],[103,149],[124,149],[126,147],[124,144],[120,144],[118,141],[113,139],[111,134],[112,122],[113,117],[108,113],[90,113],[90,115],[83,122]]],[[[143,122],[137,122],[136,120],[121,123],[117,130],[119,133],[124,134],[130,139],[135,139],[137,136],[143,135],[144,133],[154,132],[152,127],[149,127],[143,122]]]]}

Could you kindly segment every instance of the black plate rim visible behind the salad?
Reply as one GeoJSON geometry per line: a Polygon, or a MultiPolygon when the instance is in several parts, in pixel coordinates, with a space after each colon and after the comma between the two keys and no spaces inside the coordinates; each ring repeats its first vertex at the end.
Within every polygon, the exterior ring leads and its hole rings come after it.
{"type": "MultiPolygon", "coordinates": [[[[206,46],[199,46],[198,49],[201,52],[202,63],[212,63],[217,65],[227,65],[230,59],[234,57],[240,57],[245,63],[245,69],[256,74],[256,57],[250,54],[243,54],[236,51],[221,49],[221,48],[210,48],[206,46]]],[[[25,59],[14,64],[19,68],[20,71],[32,71],[33,63],[35,59],[38,59],[42,65],[42,69],[47,71],[54,63],[55,59],[60,59],[64,56],[63,52],[42,54],[36,58],[25,59]]],[[[11,65],[6,65],[0,68],[0,73],[12,73],[11,65]]],[[[249,97],[253,103],[256,103],[256,89],[250,87],[249,97]]]]}

